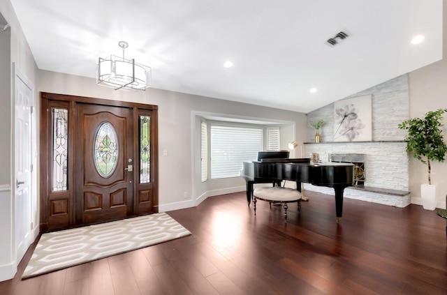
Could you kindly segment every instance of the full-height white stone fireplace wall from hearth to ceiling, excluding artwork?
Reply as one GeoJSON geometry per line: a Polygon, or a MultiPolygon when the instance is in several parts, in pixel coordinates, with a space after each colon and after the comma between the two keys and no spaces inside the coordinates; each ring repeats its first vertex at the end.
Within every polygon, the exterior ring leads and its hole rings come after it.
{"type": "MultiPolygon", "coordinates": [[[[346,197],[398,207],[410,204],[409,158],[404,142],[406,131],[397,127],[409,118],[408,89],[408,74],[405,74],[346,97],[372,96],[372,141],[369,142],[334,142],[333,103],[307,114],[308,122],[323,120],[326,124],[320,130],[321,142],[318,144],[314,143],[315,129],[310,126],[307,128],[305,155],[319,153],[323,161],[340,162],[344,160],[337,160],[337,156],[330,159],[330,155],[365,156],[362,161],[365,163],[365,179],[359,179],[358,186],[346,188],[346,197]],[[363,183],[362,186],[360,182],[363,183]]],[[[356,162],[355,160],[350,159],[349,162],[356,162]]],[[[360,174],[360,170],[357,174],[360,174]]],[[[333,190],[309,184],[305,185],[305,189],[333,194],[333,190]]]]}

